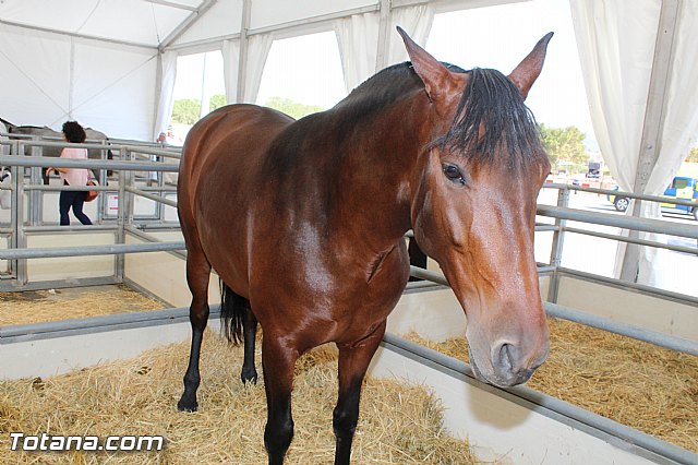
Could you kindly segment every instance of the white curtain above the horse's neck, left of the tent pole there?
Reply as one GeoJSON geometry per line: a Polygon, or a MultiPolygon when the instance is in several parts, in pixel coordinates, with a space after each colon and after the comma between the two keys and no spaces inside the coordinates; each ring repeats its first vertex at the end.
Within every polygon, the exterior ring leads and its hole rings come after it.
{"type": "Polygon", "coordinates": [[[353,14],[335,21],[334,28],[348,93],[375,74],[378,26],[378,13],[353,14]]]}

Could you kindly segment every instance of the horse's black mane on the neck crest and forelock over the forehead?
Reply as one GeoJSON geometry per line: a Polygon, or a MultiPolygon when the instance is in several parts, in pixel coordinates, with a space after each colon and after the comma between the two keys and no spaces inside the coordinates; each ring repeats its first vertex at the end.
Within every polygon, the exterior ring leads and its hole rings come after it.
{"type": "MultiPolygon", "coordinates": [[[[508,78],[496,70],[474,68],[465,71],[450,63],[443,64],[452,72],[470,74],[470,81],[450,129],[430,146],[462,153],[482,164],[501,162],[497,153],[504,152],[509,155],[507,164],[510,168],[546,159],[535,119],[508,78]],[[481,126],[484,128],[482,138],[481,126]]],[[[370,115],[404,97],[410,90],[423,86],[412,64],[406,61],[363,82],[337,108],[350,109],[354,115],[370,115]]]]}

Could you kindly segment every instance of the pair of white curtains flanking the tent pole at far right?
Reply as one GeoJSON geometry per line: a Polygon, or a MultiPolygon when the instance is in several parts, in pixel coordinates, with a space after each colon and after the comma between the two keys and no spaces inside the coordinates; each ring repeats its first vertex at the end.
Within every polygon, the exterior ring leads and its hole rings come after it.
{"type": "MultiPolygon", "coordinates": [[[[591,120],[603,158],[621,189],[631,191],[657,40],[661,1],[570,0],[573,23],[583,72],[591,120]]],[[[661,194],[686,157],[698,131],[698,28],[696,2],[681,3],[675,53],[670,63],[669,103],[661,121],[659,159],[646,187],[661,194]]],[[[640,215],[659,217],[659,205],[642,203],[640,215]]],[[[641,235],[657,240],[655,235],[641,235]]],[[[618,247],[619,275],[625,245],[618,247]]],[[[657,249],[640,248],[637,282],[654,285],[657,249]]]]}

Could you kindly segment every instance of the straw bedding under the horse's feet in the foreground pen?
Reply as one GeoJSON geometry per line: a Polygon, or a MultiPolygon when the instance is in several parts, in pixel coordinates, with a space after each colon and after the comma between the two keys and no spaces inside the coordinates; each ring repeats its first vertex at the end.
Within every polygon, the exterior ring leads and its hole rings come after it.
{"type": "MultiPolygon", "coordinates": [[[[188,356],[189,344],[183,343],[45,380],[0,382],[0,463],[265,463],[263,381],[256,386],[240,382],[242,349],[230,348],[207,332],[200,408],[194,414],[176,408],[188,356]],[[167,445],[159,453],[111,456],[106,452],[11,452],[11,431],[100,438],[163,434],[167,445]]],[[[334,346],[299,360],[293,391],[296,437],[288,463],[333,463],[336,377],[334,346]]],[[[423,388],[366,380],[352,462],[470,464],[474,458],[465,441],[449,438],[442,429],[442,407],[423,388]]]]}

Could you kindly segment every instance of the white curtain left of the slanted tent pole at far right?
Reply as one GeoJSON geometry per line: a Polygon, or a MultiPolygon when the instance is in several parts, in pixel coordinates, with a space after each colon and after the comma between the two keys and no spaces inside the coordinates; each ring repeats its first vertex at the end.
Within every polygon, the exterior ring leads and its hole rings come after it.
{"type": "Polygon", "coordinates": [[[655,0],[570,0],[594,134],[621,189],[635,182],[659,21],[655,0]]]}

